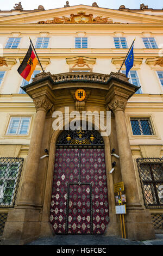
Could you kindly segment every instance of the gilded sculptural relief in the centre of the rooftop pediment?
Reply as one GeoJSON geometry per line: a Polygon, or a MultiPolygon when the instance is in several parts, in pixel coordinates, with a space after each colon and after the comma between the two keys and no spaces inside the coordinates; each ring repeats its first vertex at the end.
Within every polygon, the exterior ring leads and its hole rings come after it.
{"type": "Polygon", "coordinates": [[[93,17],[93,14],[85,14],[84,11],[79,11],[78,14],[71,14],[70,17],[62,16],[62,18],[54,17],[53,20],[39,21],[39,24],[115,24],[121,22],[113,22],[109,17],[102,16],[93,17]]]}

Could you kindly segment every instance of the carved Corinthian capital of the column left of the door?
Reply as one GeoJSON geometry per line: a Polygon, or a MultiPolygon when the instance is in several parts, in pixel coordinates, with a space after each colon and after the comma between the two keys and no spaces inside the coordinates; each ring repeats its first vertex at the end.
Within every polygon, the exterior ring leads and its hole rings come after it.
{"type": "Polygon", "coordinates": [[[36,108],[36,112],[39,110],[47,112],[53,106],[52,102],[48,99],[46,95],[36,97],[35,99],[33,99],[33,101],[36,108]]]}

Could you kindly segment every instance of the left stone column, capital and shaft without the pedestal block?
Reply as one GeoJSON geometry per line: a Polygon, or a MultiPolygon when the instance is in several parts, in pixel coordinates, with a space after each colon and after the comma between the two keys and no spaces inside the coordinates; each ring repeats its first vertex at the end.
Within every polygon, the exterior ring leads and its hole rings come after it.
{"type": "Polygon", "coordinates": [[[39,168],[42,135],[47,111],[52,107],[46,95],[36,97],[33,100],[36,107],[36,117],[30,141],[26,170],[21,186],[20,198],[17,206],[35,206],[35,187],[37,182],[37,170],[39,168]]]}

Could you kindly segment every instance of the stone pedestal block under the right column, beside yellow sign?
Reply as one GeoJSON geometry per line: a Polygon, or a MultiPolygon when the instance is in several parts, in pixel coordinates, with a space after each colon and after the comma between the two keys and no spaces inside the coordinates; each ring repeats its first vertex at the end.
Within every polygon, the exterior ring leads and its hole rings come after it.
{"type": "Polygon", "coordinates": [[[127,209],[124,215],[127,239],[151,240],[155,239],[151,214],[147,209],[127,209]]]}

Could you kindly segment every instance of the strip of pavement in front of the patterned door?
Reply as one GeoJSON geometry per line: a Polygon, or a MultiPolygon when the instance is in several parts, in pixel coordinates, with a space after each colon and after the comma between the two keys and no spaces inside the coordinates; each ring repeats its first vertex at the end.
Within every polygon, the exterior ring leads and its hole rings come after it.
{"type": "Polygon", "coordinates": [[[122,239],[119,236],[55,235],[53,237],[41,237],[27,245],[163,245],[163,234],[157,234],[156,239],[146,241],[122,239]]]}

